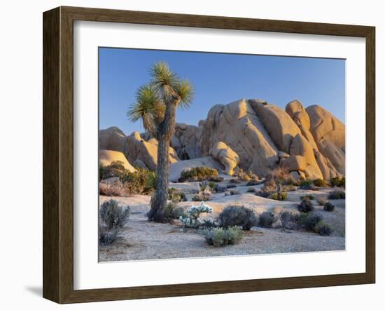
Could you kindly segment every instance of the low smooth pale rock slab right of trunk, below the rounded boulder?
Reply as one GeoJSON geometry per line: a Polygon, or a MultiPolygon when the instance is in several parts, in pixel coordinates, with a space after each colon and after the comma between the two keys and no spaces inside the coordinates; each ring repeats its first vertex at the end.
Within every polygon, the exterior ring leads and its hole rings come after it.
{"type": "Polygon", "coordinates": [[[216,161],[216,159],[211,156],[202,157],[199,159],[188,159],[186,161],[178,161],[176,163],[172,163],[169,166],[169,181],[178,182],[183,170],[190,170],[191,168],[197,167],[209,167],[216,170],[223,170],[221,163],[216,161]]]}

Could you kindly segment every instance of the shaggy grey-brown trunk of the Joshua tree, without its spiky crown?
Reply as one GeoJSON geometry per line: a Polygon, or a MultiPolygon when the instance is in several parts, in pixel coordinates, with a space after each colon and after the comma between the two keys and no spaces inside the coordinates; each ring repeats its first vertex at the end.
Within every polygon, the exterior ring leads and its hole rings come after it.
{"type": "Polygon", "coordinates": [[[155,196],[151,198],[151,210],[148,220],[165,222],[163,213],[167,205],[169,193],[169,144],[175,128],[175,114],[178,101],[166,105],[165,121],[161,124],[158,133],[158,165],[155,196]]]}

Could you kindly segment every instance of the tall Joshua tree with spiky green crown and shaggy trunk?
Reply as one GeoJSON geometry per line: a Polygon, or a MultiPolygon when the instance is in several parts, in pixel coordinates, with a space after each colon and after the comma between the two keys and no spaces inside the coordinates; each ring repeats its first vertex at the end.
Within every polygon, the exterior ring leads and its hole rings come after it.
{"type": "Polygon", "coordinates": [[[156,62],[150,69],[150,83],[137,90],[137,100],[127,116],[130,121],[142,121],[144,128],[158,140],[157,187],[151,199],[148,220],[164,222],[169,178],[169,143],[174,133],[176,108],[189,107],[193,100],[193,86],[179,79],[166,62],[156,62]]]}

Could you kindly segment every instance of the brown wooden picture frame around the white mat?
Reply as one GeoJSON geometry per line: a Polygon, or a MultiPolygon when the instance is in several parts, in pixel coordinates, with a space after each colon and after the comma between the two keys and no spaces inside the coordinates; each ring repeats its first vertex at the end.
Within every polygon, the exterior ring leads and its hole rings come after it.
{"type": "Polygon", "coordinates": [[[99,8],[43,13],[43,297],[58,303],[355,285],[375,281],[375,29],[99,8]],[[267,278],[94,290],[73,289],[73,21],[355,36],[366,41],[366,270],[359,274],[267,278]]]}

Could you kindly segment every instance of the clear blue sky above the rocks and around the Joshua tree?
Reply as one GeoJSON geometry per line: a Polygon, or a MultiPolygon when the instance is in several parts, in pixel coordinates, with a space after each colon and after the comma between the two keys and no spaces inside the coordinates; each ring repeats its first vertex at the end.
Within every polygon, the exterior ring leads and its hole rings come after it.
{"type": "Polygon", "coordinates": [[[179,109],[176,121],[197,125],[209,109],[242,98],[259,98],[282,109],[291,100],[304,107],[321,105],[345,122],[345,61],[264,55],[99,48],[99,126],[118,126],[126,135],[144,131],[127,120],[148,69],[163,60],[195,88],[190,109],[179,109]]]}

